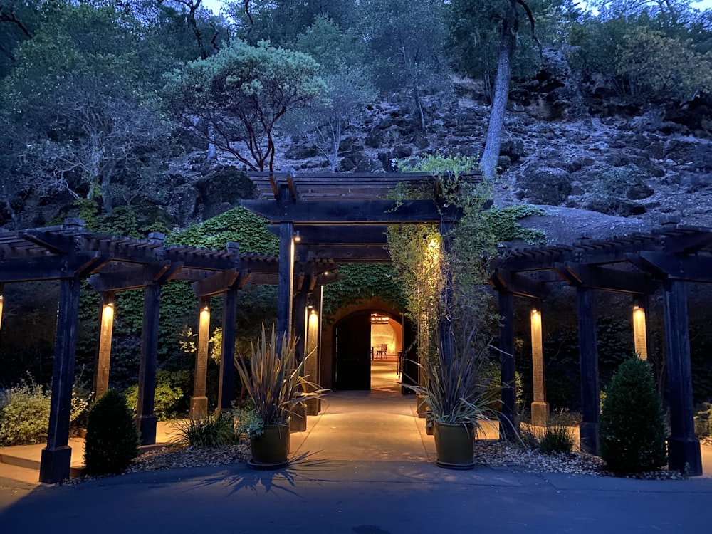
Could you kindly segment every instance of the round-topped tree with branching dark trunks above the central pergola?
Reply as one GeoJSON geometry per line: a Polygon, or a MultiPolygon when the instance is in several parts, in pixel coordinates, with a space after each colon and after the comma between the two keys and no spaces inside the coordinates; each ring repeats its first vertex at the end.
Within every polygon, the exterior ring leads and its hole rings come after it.
{"type": "Polygon", "coordinates": [[[322,93],[318,64],[300,52],[234,41],[167,75],[165,93],[183,125],[249,169],[272,169],[273,128],[322,93]]]}

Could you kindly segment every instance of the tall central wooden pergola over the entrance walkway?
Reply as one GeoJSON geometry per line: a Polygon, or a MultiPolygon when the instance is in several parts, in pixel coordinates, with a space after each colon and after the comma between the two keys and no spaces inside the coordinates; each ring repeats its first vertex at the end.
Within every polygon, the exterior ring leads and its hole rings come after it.
{"type": "MultiPolygon", "coordinates": [[[[268,219],[271,231],[279,236],[279,335],[288,333],[292,325],[294,259],[389,263],[389,225],[437,224],[445,232],[461,216],[460,209],[442,199],[439,179],[428,173],[256,172],[250,179],[261,199],[245,200],[242,205],[268,219]],[[393,200],[397,187],[404,186],[429,198],[393,200]]],[[[296,302],[296,317],[301,318],[306,295],[296,302]]],[[[295,332],[301,331],[296,325],[295,332]]]]}

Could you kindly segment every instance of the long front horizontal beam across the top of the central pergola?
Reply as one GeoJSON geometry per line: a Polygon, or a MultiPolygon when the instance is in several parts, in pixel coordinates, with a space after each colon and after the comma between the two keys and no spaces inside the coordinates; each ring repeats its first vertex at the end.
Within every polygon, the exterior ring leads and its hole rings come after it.
{"type": "Polygon", "coordinates": [[[265,200],[243,200],[242,206],[272,223],[295,224],[412,224],[458,221],[462,210],[456,206],[438,206],[431,200],[320,201],[303,200],[277,203],[265,200]]]}

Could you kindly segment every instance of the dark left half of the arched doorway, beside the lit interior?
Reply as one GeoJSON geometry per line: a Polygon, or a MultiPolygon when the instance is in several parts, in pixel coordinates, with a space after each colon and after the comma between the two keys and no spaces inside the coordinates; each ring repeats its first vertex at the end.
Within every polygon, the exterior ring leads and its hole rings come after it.
{"type": "Polygon", "coordinates": [[[351,315],[334,327],[336,357],[333,389],[371,389],[371,321],[351,315]]]}

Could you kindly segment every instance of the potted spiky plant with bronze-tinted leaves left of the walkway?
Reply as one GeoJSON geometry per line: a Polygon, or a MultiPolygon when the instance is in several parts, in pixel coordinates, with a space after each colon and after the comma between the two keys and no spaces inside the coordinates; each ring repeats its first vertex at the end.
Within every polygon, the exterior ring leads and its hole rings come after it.
{"type": "Polygon", "coordinates": [[[252,452],[248,465],[252,468],[278,469],[288,464],[290,408],[324,392],[302,376],[306,358],[296,360],[295,346],[295,339],[287,336],[278,344],[274,326],[268,339],[262,325],[261,337],[252,343],[251,358],[235,358],[257,415],[248,425],[252,452]]]}

